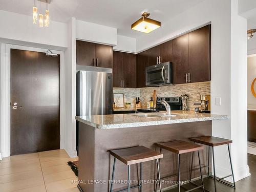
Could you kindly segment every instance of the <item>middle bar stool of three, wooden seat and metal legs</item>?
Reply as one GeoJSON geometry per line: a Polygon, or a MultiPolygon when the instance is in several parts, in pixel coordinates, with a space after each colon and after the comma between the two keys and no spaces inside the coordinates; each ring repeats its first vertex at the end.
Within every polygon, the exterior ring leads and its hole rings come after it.
{"type": "MultiPolygon", "coordinates": [[[[202,169],[201,169],[200,156],[199,156],[199,150],[203,150],[203,146],[195,144],[195,143],[186,142],[186,141],[170,141],[170,142],[164,142],[164,143],[156,143],[156,146],[160,147],[160,153],[162,153],[162,149],[164,149],[169,152],[176,153],[178,155],[178,180],[179,180],[178,189],[179,189],[179,192],[180,192],[180,188],[182,187],[182,185],[180,185],[180,154],[185,154],[185,153],[190,153],[190,152],[194,153],[197,151],[202,185],[197,186],[193,189],[189,189],[189,190],[187,190],[187,192],[198,189],[198,188],[203,188],[203,191],[204,191],[204,182],[203,182],[202,169]]],[[[177,176],[177,174],[172,175],[172,176],[167,176],[162,179],[175,177],[175,176],[177,176]]],[[[160,182],[157,182],[157,183],[160,184],[160,182]]],[[[156,183],[155,191],[157,191],[157,183],[156,183]]]]}

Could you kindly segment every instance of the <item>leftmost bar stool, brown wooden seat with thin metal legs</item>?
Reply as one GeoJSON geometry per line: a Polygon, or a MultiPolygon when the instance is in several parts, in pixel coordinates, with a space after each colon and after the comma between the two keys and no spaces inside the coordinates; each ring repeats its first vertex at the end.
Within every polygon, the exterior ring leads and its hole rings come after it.
{"type": "MultiPolygon", "coordinates": [[[[132,188],[139,188],[139,191],[142,191],[142,163],[147,161],[156,160],[157,168],[158,168],[158,178],[160,180],[160,171],[159,171],[159,159],[163,158],[163,154],[153,151],[150,148],[147,148],[145,146],[134,146],[129,148],[122,148],[118,150],[111,150],[110,154],[114,156],[114,164],[113,164],[113,170],[112,170],[112,178],[111,178],[111,186],[110,186],[110,192],[112,192],[113,189],[113,180],[114,180],[114,174],[115,174],[115,165],[116,165],[116,159],[123,162],[127,165],[128,168],[128,180],[127,180],[127,188],[120,189],[115,192],[119,191],[130,191],[132,188]],[[130,165],[140,163],[140,180],[139,184],[135,186],[130,187],[130,165]]],[[[162,191],[160,186],[160,191],[162,191]]]]}

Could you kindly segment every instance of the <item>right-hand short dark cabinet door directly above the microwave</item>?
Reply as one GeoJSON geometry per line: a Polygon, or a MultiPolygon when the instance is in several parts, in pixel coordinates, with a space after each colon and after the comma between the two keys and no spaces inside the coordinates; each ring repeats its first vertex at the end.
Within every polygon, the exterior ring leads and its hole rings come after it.
{"type": "Polygon", "coordinates": [[[160,61],[161,62],[168,62],[172,61],[173,59],[173,41],[169,40],[164,42],[160,46],[160,61]]]}

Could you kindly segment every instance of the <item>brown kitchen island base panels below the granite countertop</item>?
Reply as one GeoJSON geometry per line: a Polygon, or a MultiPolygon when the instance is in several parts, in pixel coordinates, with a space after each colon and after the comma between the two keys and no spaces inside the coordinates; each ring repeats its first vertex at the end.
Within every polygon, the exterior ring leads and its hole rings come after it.
{"type": "MultiPolygon", "coordinates": [[[[143,145],[159,151],[155,143],[174,140],[189,141],[191,137],[211,135],[211,121],[175,123],[153,126],[127,127],[121,129],[97,129],[93,126],[79,122],[79,190],[84,192],[109,191],[111,171],[114,158],[109,151],[117,148],[143,145]]],[[[207,150],[200,152],[201,163],[207,164],[207,150]]],[[[163,150],[160,172],[161,177],[177,173],[177,155],[163,150]]],[[[194,167],[199,167],[194,155],[194,167]]],[[[211,158],[211,157],[210,157],[211,158]]],[[[181,180],[189,179],[191,154],[181,154],[181,180]]],[[[154,182],[157,174],[156,164],[153,161],[142,163],[143,191],[154,191],[154,182]]],[[[206,174],[207,168],[203,169],[206,174]]],[[[131,166],[131,186],[138,180],[137,166],[131,166]]],[[[210,169],[211,170],[211,169],[210,169]]],[[[200,171],[193,172],[192,178],[199,177],[200,171]]],[[[114,191],[127,186],[127,166],[116,162],[114,191]]],[[[175,183],[177,178],[169,178],[162,182],[162,188],[175,183]]],[[[138,191],[138,188],[130,190],[138,191]]]]}

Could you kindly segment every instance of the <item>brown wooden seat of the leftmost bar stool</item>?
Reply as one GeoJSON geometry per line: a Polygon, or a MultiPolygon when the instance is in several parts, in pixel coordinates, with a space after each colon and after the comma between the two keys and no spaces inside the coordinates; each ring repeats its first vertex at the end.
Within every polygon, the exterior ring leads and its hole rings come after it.
{"type": "Polygon", "coordinates": [[[126,165],[133,165],[163,158],[163,154],[153,151],[145,146],[135,146],[130,148],[122,148],[119,150],[111,150],[110,154],[126,165]]]}

